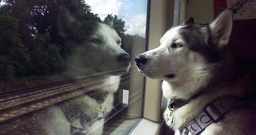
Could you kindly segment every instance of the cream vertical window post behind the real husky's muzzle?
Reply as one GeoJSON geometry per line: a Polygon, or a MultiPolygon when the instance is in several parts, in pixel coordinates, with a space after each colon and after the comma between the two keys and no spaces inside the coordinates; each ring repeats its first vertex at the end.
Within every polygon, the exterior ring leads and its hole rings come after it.
{"type": "MultiPolygon", "coordinates": [[[[159,40],[167,30],[168,0],[151,0],[149,9],[148,50],[159,46],[159,40]]],[[[143,118],[160,122],[161,91],[160,80],[146,78],[143,118]]]]}

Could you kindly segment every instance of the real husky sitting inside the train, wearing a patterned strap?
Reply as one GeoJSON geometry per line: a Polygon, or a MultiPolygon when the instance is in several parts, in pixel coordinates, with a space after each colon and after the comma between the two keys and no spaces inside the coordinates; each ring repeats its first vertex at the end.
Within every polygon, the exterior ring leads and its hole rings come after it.
{"type": "Polygon", "coordinates": [[[140,73],[163,80],[170,100],[163,116],[175,135],[256,133],[256,111],[246,98],[250,78],[240,72],[228,44],[232,21],[229,9],[209,24],[190,17],[169,29],[157,48],[135,58],[140,73]]]}

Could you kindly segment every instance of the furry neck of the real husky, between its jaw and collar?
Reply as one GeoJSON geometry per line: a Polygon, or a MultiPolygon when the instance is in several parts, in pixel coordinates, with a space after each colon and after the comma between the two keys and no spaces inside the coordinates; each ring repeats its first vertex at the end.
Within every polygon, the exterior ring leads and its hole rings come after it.
{"type": "Polygon", "coordinates": [[[233,82],[231,79],[237,76],[237,71],[235,69],[225,69],[225,67],[220,67],[219,65],[221,64],[212,64],[207,67],[199,65],[196,70],[187,73],[187,76],[176,81],[164,80],[162,83],[163,95],[167,99],[188,100],[206,91],[219,91],[218,87],[232,85],[230,84],[230,82],[233,82]],[[220,74],[224,77],[219,78],[220,74]]]}

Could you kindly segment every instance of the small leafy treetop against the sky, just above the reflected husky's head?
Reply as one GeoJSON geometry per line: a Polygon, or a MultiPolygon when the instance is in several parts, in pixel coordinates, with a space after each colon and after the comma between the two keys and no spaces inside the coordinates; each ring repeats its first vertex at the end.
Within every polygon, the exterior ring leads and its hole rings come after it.
{"type": "Polygon", "coordinates": [[[113,16],[112,14],[108,14],[103,22],[113,27],[121,38],[125,36],[125,21],[118,19],[116,15],[113,16]]]}

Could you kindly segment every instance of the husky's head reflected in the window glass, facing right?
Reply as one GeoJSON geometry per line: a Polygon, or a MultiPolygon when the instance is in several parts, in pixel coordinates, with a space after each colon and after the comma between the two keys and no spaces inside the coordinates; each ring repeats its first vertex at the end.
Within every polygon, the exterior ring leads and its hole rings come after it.
{"type": "Polygon", "coordinates": [[[122,39],[114,29],[97,23],[86,44],[80,46],[75,55],[87,75],[106,72],[122,75],[130,69],[131,57],[120,47],[121,43],[122,39]]]}

